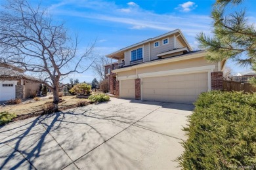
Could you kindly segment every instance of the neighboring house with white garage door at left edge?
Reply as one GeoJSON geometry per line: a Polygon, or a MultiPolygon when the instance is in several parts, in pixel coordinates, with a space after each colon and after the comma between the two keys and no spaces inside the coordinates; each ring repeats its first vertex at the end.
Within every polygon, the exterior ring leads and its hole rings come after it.
{"type": "Polygon", "coordinates": [[[26,99],[39,91],[39,83],[24,79],[24,70],[0,63],[0,101],[26,99]]]}

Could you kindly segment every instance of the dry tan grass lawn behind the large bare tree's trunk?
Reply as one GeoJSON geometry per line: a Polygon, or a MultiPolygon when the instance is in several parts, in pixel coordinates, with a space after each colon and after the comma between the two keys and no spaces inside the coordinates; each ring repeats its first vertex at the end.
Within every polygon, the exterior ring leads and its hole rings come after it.
{"type": "MultiPolygon", "coordinates": [[[[89,101],[89,99],[77,99],[75,96],[63,96],[60,98],[64,101],[59,103],[59,107],[75,105],[79,101],[89,101]]],[[[16,115],[28,114],[31,112],[42,110],[45,103],[49,103],[52,101],[53,99],[49,99],[49,97],[41,97],[41,100],[39,101],[33,101],[33,99],[28,99],[18,105],[7,105],[6,107],[0,106],[0,110],[1,112],[7,111],[10,113],[15,113],[16,115]]]]}

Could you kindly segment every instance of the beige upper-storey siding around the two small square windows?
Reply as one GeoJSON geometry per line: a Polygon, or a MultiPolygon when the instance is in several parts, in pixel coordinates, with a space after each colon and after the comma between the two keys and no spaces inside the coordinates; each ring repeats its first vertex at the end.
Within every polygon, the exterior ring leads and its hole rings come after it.
{"type": "Polygon", "coordinates": [[[174,36],[171,37],[164,37],[162,39],[159,39],[157,41],[160,41],[160,46],[154,47],[154,42],[150,43],[150,60],[158,59],[156,54],[160,54],[161,52],[167,52],[169,50],[174,49],[174,36]],[[163,45],[163,39],[169,38],[169,43],[163,45]]]}

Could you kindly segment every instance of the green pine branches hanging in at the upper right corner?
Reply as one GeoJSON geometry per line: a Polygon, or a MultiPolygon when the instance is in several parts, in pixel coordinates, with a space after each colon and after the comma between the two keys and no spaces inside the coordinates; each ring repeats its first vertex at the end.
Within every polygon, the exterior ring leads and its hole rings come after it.
{"type": "MultiPolygon", "coordinates": [[[[245,10],[227,14],[231,7],[238,7],[243,0],[217,0],[211,12],[213,37],[200,33],[200,47],[207,50],[207,59],[221,61],[233,59],[242,66],[251,65],[256,71],[256,27],[249,24],[245,10]]],[[[234,10],[232,10],[234,11],[234,10]]],[[[256,78],[251,78],[256,85],[256,78]]]]}

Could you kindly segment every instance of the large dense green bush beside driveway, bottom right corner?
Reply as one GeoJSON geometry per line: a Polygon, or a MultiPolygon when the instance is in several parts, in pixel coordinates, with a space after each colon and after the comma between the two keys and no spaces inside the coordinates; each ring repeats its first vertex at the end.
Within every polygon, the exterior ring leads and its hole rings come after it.
{"type": "Polygon", "coordinates": [[[184,128],[182,169],[253,169],[256,165],[256,94],[202,93],[184,128]]]}

